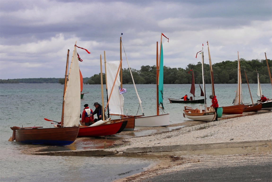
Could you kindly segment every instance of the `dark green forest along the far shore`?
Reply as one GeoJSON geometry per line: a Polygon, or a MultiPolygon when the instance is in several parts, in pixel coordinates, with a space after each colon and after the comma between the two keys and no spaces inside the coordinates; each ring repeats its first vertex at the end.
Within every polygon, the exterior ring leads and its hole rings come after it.
{"type": "MultiPolygon", "coordinates": [[[[272,62],[267,59],[270,74],[272,69],[272,62]]],[[[237,65],[238,61],[223,61],[212,65],[215,84],[237,83],[237,65]]],[[[202,66],[201,62],[195,64],[188,64],[184,68],[170,68],[163,67],[163,83],[164,84],[189,84],[192,82],[192,71],[194,72],[195,83],[202,83],[202,66]]],[[[211,83],[211,74],[209,64],[204,65],[205,83],[211,83]]],[[[242,83],[257,83],[257,71],[259,73],[260,83],[270,83],[267,69],[267,62],[265,59],[240,59],[240,71],[242,83]],[[245,74],[246,72],[246,74],[245,74]]],[[[141,66],[140,70],[131,68],[135,84],[156,84],[156,65],[141,66]]],[[[102,73],[103,83],[106,83],[105,73],[102,73]]],[[[94,74],[91,77],[83,78],[84,84],[100,84],[100,73],[94,74]]],[[[122,69],[123,84],[132,84],[131,74],[128,68],[122,69]]],[[[64,78],[24,78],[24,79],[0,79],[0,83],[60,83],[64,84],[64,78]]]]}

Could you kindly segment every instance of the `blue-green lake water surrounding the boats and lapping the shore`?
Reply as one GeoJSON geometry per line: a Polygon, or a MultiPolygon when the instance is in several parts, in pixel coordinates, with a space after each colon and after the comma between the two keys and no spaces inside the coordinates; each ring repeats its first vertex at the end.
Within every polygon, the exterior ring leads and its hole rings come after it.
{"type": "MultiPolygon", "coordinates": [[[[156,85],[137,85],[138,94],[142,100],[143,112],[146,116],[155,115],[156,85]]],[[[262,93],[272,98],[270,84],[262,84],[262,93]]],[[[129,115],[140,115],[139,104],[133,85],[124,85],[128,93],[124,93],[125,109],[129,115]],[[138,112],[138,113],[137,113],[138,112]]],[[[230,106],[235,97],[236,84],[217,84],[215,93],[219,106],[230,106]]],[[[254,100],[257,84],[250,84],[254,100]]],[[[81,108],[84,104],[101,103],[101,86],[84,85],[83,93],[89,92],[81,99],[81,108]]],[[[105,91],[105,86],[104,86],[105,91]]],[[[189,94],[190,85],[164,85],[164,107],[170,113],[171,123],[187,121],[183,118],[184,104],[171,104],[168,98],[178,99],[189,94]]],[[[206,85],[206,95],[211,94],[210,85],[206,85]]],[[[196,85],[196,96],[200,89],[196,85]]],[[[246,84],[243,84],[244,103],[250,103],[250,95],[246,84]]],[[[104,94],[105,96],[105,94],[104,94]]],[[[12,136],[12,126],[43,126],[52,127],[48,118],[60,121],[63,97],[63,85],[60,84],[1,84],[0,85],[0,152],[1,152],[1,180],[0,181],[113,181],[144,170],[154,165],[158,159],[131,158],[131,157],[70,157],[70,156],[31,156],[21,154],[27,148],[42,145],[27,145],[18,142],[8,142],[12,136]]],[[[197,97],[195,98],[197,99],[197,97]]],[[[211,105],[207,99],[208,106],[211,105]]],[[[196,108],[199,104],[188,104],[196,108]]],[[[91,106],[92,109],[94,109],[91,106]]],[[[137,127],[135,129],[138,129],[137,127]]],[[[155,130],[155,129],[154,129],[155,130]]],[[[168,130],[168,128],[166,128],[168,130]]],[[[153,131],[152,131],[153,132],[153,131]]],[[[135,133],[132,135],[136,135],[135,133]]],[[[131,137],[131,136],[122,136],[131,137]]],[[[68,146],[47,147],[45,151],[82,150],[103,148],[111,145],[120,136],[77,139],[68,146]]]]}

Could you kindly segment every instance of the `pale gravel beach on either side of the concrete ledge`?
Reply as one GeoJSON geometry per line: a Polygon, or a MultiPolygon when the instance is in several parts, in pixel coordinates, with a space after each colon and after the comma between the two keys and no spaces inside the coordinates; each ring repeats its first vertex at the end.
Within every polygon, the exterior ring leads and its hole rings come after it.
{"type": "MultiPolygon", "coordinates": [[[[191,121],[197,124],[198,121],[191,121]]],[[[189,124],[183,123],[183,124],[189,124]]],[[[137,130],[135,131],[137,132],[137,130]]],[[[123,132],[121,133],[123,134],[123,132]]],[[[126,148],[145,146],[167,146],[177,144],[202,144],[212,142],[255,141],[272,139],[272,112],[258,111],[242,115],[225,115],[220,120],[210,123],[197,124],[169,132],[154,133],[117,141],[120,147],[112,150],[122,152],[126,148]],[[123,146],[122,146],[123,144],[123,146]]],[[[146,171],[116,180],[121,181],[149,181],[147,179],[187,168],[207,168],[218,166],[243,166],[249,161],[258,163],[272,161],[271,152],[235,154],[235,155],[183,155],[159,157],[161,162],[151,166],[146,171]]],[[[167,179],[162,179],[167,181],[167,179]]]]}

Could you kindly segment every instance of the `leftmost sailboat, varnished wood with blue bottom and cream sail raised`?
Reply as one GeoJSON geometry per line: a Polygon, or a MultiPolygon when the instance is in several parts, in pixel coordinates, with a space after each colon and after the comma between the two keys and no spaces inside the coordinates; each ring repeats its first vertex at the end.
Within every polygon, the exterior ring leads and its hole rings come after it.
{"type": "MultiPolygon", "coordinates": [[[[73,62],[74,55],[77,55],[76,44],[70,65],[69,75],[69,49],[67,53],[65,83],[63,92],[63,107],[60,127],[43,128],[34,127],[11,127],[13,130],[12,141],[27,144],[44,145],[69,145],[72,144],[79,132],[80,115],[80,77],[78,61],[73,62]],[[68,78],[67,78],[68,77],[68,78]]],[[[52,121],[45,119],[47,121],[52,121]]]]}

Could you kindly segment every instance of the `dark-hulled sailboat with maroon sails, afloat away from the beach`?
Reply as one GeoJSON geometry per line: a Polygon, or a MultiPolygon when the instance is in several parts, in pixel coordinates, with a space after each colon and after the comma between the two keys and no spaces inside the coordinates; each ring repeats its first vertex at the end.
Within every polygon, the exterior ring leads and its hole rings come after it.
{"type": "MultiPolygon", "coordinates": [[[[193,69],[191,69],[190,71],[192,71],[192,84],[191,84],[190,93],[193,94],[193,96],[195,97],[194,93],[195,93],[196,89],[195,89],[195,86],[194,86],[194,71],[193,71],[193,69]]],[[[200,87],[200,90],[201,90],[200,96],[204,96],[204,93],[203,93],[203,90],[202,90],[200,84],[199,84],[199,87],[200,87]]],[[[183,97],[180,98],[180,99],[183,99],[183,97]]],[[[192,96],[190,97],[190,100],[180,100],[180,99],[168,99],[168,100],[170,101],[170,103],[191,103],[191,104],[205,103],[205,99],[196,99],[196,100],[194,99],[193,100],[192,96]]]]}

